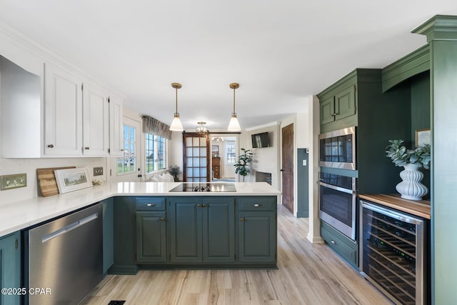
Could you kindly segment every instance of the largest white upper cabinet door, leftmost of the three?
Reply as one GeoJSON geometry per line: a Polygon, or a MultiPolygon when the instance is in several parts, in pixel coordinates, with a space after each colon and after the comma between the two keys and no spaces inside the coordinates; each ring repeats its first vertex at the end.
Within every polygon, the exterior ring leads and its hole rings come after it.
{"type": "Polygon", "coordinates": [[[51,64],[44,68],[44,155],[82,156],[83,82],[51,64]]]}

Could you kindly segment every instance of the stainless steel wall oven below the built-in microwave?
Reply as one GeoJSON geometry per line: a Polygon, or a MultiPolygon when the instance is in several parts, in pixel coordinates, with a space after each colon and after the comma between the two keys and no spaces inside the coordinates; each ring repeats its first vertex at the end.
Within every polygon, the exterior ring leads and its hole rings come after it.
{"type": "Polygon", "coordinates": [[[356,240],[356,178],[319,174],[319,218],[356,240]]]}

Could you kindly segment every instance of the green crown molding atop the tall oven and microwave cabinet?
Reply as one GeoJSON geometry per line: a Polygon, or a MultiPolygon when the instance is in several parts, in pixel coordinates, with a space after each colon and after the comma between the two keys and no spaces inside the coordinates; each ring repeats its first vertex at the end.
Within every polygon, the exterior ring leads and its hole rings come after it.
{"type": "Polygon", "coordinates": [[[346,76],[328,86],[321,93],[316,94],[319,101],[323,101],[327,96],[335,95],[346,86],[353,86],[356,83],[376,83],[379,81],[381,69],[355,69],[346,76]]]}

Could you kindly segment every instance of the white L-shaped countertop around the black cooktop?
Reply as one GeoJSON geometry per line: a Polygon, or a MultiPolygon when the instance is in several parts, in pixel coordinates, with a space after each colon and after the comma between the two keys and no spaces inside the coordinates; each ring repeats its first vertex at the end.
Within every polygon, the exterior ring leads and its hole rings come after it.
{"type": "Polygon", "coordinates": [[[171,192],[180,182],[119,182],[0,205],[0,237],[113,196],[278,196],[266,182],[236,182],[236,192],[171,192]]]}

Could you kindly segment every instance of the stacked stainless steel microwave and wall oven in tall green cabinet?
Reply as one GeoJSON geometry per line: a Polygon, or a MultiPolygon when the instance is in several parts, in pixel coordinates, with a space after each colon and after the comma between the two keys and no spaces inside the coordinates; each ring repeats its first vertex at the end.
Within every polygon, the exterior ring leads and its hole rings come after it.
{"type": "Polygon", "coordinates": [[[319,135],[319,166],[319,218],[356,241],[355,126],[319,135]]]}

